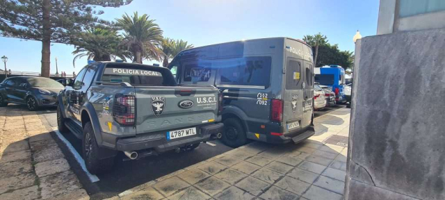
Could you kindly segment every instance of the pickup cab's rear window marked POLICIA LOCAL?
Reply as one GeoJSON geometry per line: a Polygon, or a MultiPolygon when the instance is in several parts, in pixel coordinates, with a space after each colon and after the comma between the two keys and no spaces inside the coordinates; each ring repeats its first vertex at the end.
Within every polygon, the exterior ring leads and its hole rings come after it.
{"type": "Polygon", "coordinates": [[[107,67],[102,75],[102,81],[127,82],[131,85],[163,86],[161,72],[144,69],[107,67]]]}

